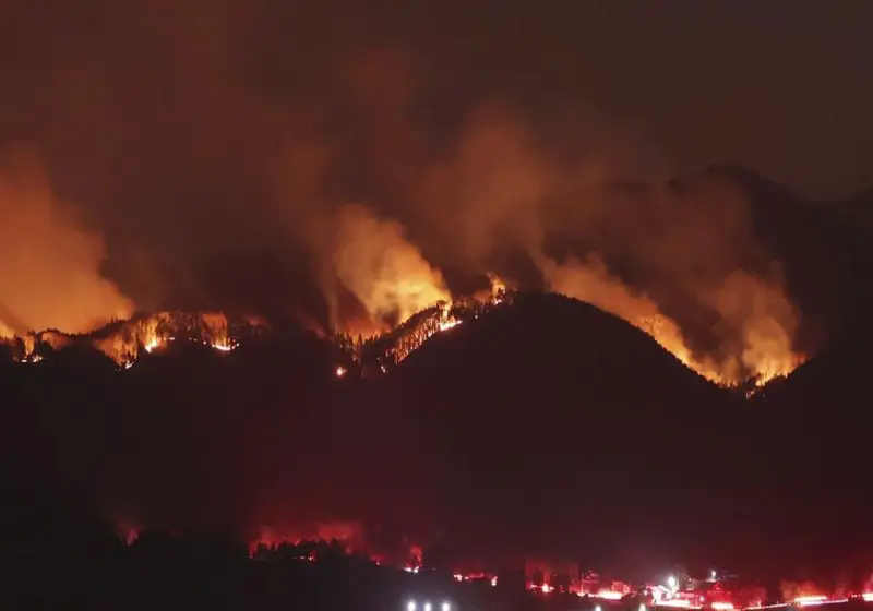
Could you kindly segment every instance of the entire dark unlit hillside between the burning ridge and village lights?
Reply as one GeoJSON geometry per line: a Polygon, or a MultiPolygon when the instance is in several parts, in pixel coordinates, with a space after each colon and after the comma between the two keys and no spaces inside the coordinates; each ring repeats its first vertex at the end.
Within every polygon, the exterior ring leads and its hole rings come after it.
{"type": "Polygon", "coordinates": [[[591,566],[781,570],[849,524],[808,503],[791,457],[814,431],[774,451],[785,411],[574,300],[522,295],[375,380],[336,378],[334,357],[288,336],[170,347],[125,371],[82,347],[7,362],[4,463],[110,525],[251,538],[362,519],[459,555],[591,566]]]}

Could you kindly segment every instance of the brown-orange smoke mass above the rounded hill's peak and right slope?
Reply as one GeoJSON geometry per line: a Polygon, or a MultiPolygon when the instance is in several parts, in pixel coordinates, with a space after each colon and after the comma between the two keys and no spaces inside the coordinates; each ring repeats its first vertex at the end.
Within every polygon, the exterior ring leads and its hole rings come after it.
{"type": "Polygon", "coordinates": [[[715,178],[629,182],[658,176],[658,164],[634,154],[626,130],[586,119],[575,134],[584,145],[562,149],[548,125],[506,105],[475,108],[410,195],[431,251],[477,273],[527,252],[548,287],[625,319],[710,380],[791,371],[798,312],[744,197],[715,178]],[[560,251],[563,263],[546,254],[560,251]]]}

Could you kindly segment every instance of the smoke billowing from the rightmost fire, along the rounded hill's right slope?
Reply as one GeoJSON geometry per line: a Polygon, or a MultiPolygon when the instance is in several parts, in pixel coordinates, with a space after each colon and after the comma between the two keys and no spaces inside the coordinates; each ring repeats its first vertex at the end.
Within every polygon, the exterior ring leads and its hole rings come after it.
{"type": "Polygon", "coordinates": [[[540,263],[557,290],[574,284],[570,295],[599,300],[642,328],[657,320],[653,335],[716,381],[766,380],[797,367],[798,311],[733,188],[715,179],[666,188],[607,185],[586,190],[584,202],[574,211],[583,219],[576,236],[601,261],[582,267],[540,263]],[[615,290],[618,274],[610,276],[605,261],[623,269],[636,290],[615,290]],[[569,279],[574,268],[575,281],[569,279]]]}

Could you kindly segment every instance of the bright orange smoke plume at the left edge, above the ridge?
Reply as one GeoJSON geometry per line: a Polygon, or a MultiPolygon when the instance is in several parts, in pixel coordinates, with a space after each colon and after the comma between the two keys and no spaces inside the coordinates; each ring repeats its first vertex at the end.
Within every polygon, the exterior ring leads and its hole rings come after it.
{"type": "Polygon", "coordinates": [[[32,153],[0,158],[0,334],[86,332],[130,315],[131,302],[100,274],[101,237],[74,214],[32,153]]]}

